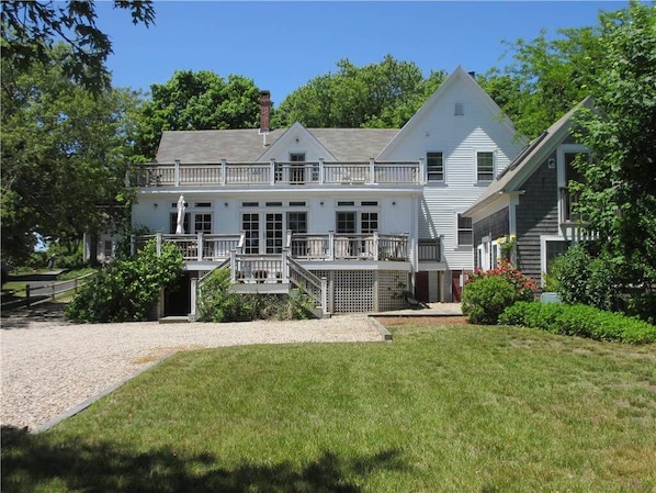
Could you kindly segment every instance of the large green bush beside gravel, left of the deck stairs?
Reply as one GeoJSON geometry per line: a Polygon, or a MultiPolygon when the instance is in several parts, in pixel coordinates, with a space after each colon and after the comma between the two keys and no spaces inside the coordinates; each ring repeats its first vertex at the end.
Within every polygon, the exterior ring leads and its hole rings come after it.
{"type": "Polygon", "coordinates": [[[183,262],[176,245],[161,245],[158,255],[151,240],[134,257],[100,270],[67,305],[66,316],[82,323],[144,320],[161,289],[179,278],[183,262]]]}

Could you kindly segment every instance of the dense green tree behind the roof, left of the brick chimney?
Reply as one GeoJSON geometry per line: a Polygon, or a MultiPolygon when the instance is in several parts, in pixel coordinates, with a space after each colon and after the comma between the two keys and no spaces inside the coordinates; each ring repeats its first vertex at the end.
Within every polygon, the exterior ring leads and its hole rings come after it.
{"type": "Polygon", "coordinates": [[[155,157],[163,131],[256,128],[260,91],[251,79],[208,70],[179,70],[162,85],[150,86],[150,99],[138,117],[135,154],[155,157]]]}

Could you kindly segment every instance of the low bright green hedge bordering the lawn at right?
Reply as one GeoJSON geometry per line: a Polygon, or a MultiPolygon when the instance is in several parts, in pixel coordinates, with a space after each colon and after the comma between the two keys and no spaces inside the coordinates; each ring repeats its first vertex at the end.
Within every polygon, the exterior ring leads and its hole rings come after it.
{"type": "Polygon", "coordinates": [[[597,340],[656,343],[656,326],[581,304],[520,302],[501,313],[499,324],[523,325],[597,340]]]}

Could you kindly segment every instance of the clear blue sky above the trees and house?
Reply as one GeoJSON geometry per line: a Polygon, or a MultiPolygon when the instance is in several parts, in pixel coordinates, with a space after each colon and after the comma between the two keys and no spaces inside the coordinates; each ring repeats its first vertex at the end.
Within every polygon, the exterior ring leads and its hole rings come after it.
{"type": "Polygon", "coordinates": [[[431,69],[485,72],[502,67],[502,41],[532,40],[544,29],[596,25],[615,1],[156,1],[155,25],[133,25],[127,11],[99,2],[98,25],[114,54],[115,87],[148,91],[176,70],[236,74],[269,89],[274,105],[312,78],[386,54],[431,69]]]}

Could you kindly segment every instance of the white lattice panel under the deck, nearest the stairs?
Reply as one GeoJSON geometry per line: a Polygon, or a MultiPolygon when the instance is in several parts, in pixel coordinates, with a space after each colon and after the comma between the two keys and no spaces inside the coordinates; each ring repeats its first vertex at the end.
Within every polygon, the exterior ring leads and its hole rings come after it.
{"type": "Polygon", "coordinates": [[[374,272],[335,271],[335,313],[365,313],[374,307],[374,272]]]}

